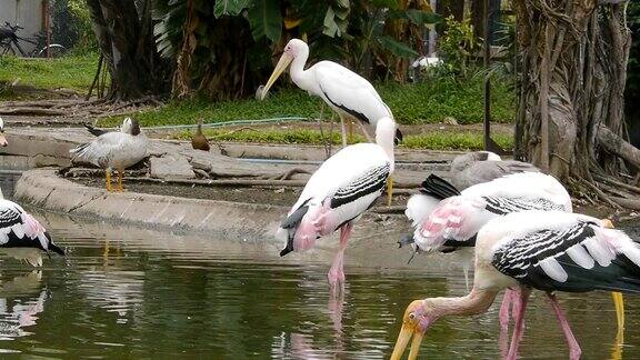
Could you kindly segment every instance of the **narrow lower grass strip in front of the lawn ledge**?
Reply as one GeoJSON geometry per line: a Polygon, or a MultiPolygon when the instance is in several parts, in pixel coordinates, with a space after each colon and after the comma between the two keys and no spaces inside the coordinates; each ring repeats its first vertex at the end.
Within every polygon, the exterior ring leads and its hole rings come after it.
{"type": "MultiPolygon", "coordinates": [[[[323,144],[324,140],[318,130],[289,129],[289,130],[252,130],[229,131],[224,129],[204,129],[204,136],[214,141],[239,141],[261,143],[290,143],[290,144],[323,144]]],[[[173,139],[189,140],[191,131],[180,131],[172,136],[173,139]]],[[[339,132],[333,132],[331,138],[336,146],[341,144],[339,132]]],[[[493,133],[493,140],[504,149],[513,148],[513,137],[504,133],[493,133]]],[[[363,142],[361,136],[349,139],[350,143],[363,142]]],[[[438,131],[419,136],[407,136],[400,144],[404,149],[432,149],[432,150],[482,150],[482,133],[480,132],[453,132],[438,131]]]]}

